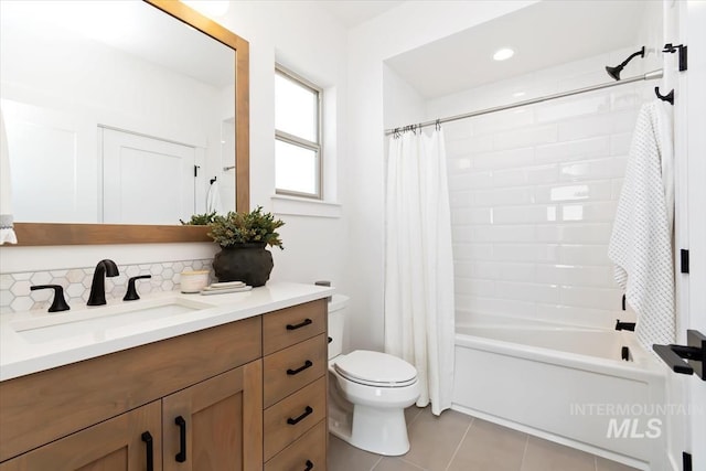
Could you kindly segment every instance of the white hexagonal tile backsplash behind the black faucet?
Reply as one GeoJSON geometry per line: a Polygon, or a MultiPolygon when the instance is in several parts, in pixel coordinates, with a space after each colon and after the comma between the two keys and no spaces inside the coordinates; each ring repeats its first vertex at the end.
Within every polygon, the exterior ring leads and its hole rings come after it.
{"type": "MultiPolygon", "coordinates": [[[[210,270],[210,279],[213,281],[215,276],[211,263],[212,259],[208,258],[205,260],[118,265],[120,275],[106,278],[106,300],[122,299],[127,290],[128,279],[139,275],[152,276],[152,278],[137,281],[137,291],[141,295],[178,290],[182,271],[210,270]]],[[[88,267],[2,274],[0,275],[0,312],[46,311],[52,303],[54,292],[51,289],[30,291],[30,287],[35,285],[61,285],[64,288],[64,298],[68,306],[86,306],[94,270],[95,267],[88,267]]]]}

